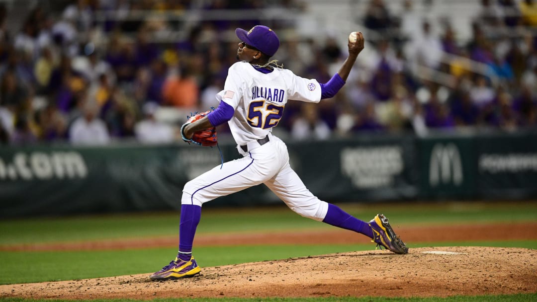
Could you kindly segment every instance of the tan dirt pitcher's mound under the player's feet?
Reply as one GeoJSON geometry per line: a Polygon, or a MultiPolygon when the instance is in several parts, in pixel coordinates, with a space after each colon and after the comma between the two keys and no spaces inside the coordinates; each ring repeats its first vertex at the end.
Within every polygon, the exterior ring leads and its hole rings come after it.
{"type": "Polygon", "coordinates": [[[408,255],[352,252],[206,267],[193,278],[168,282],[151,282],[148,276],[0,285],[0,297],[446,297],[537,292],[537,251],[411,248],[408,255]]]}

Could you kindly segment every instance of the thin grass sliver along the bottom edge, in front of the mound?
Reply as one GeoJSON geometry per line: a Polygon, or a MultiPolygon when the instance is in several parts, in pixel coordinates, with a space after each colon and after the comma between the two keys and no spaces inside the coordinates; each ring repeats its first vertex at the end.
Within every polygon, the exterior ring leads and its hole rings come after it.
{"type": "MultiPolygon", "coordinates": [[[[38,300],[4,298],[5,302],[34,302],[38,300]]],[[[44,300],[43,300],[44,301],[44,300]]],[[[49,302],[64,302],[70,300],[47,299],[49,302]]],[[[113,300],[79,300],[82,302],[132,302],[130,299],[113,300]]],[[[490,295],[490,296],[453,296],[447,298],[381,298],[381,297],[328,297],[328,298],[197,298],[197,299],[153,299],[154,302],[532,302],[537,301],[536,293],[511,294],[511,295],[490,295]]]]}

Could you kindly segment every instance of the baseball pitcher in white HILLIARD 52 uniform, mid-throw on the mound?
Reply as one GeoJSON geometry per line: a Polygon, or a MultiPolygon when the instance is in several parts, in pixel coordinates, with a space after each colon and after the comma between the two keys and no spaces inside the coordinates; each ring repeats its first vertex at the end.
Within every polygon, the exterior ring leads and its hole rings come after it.
{"type": "Polygon", "coordinates": [[[303,217],[364,234],[381,247],[407,254],[407,246],[383,215],[376,215],[366,223],[311,194],[289,166],[286,144],[272,134],[288,100],[317,103],[333,97],[343,87],[358,54],[364,49],[364,36],[356,33],[354,38],[352,35],[348,43],[349,56],[339,71],[321,84],[282,69],[276,60],[270,61],[280,46],[271,28],[258,25],[249,31],[237,28],[235,33],[241,41],[237,49],[239,62],[229,68],[224,90],[216,95],[220,105],[214,111],[189,119],[181,132],[185,142],[206,145],[207,139],[213,143],[216,139],[214,127],[227,122],[237,151],[243,157],[218,165],[186,183],[181,199],[179,253],[150,278],[168,280],[199,274],[192,243],[201,206],[260,183],[303,217]]]}

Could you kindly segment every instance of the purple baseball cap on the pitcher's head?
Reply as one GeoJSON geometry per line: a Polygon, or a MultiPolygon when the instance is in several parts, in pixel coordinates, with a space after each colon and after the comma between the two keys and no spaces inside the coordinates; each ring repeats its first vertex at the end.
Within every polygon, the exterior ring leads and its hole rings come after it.
{"type": "Polygon", "coordinates": [[[237,28],[235,34],[241,41],[251,45],[262,53],[273,56],[280,47],[280,39],[274,31],[264,25],[256,25],[250,31],[237,28]]]}

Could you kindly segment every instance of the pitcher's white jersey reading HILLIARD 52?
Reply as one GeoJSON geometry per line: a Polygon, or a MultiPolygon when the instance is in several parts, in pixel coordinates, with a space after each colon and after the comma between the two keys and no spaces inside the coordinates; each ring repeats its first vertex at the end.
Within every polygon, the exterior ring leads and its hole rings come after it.
{"type": "Polygon", "coordinates": [[[274,68],[262,73],[247,62],[229,68],[224,90],[216,98],[235,113],[229,129],[238,145],[265,137],[284,113],[287,100],[319,102],[321,86],[315,79],[296,76],[291,70],[274,68]]]}

